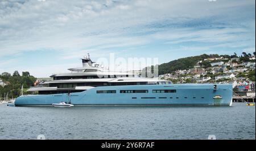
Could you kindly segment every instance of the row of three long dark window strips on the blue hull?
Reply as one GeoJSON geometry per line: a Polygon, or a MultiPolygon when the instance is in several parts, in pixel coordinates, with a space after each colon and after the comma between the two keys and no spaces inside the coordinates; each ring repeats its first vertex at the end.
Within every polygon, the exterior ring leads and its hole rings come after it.
{"type": "MultiPolygon", "coordinates": [[[[176,93],[176,90],[153,90],[153,93],[176,93]]],[[[116,90],[97,90],[97,93],[117,93],[116,90]]],[[[120,90],[120,93],[148,93],[148,90],[120,90]]]]}

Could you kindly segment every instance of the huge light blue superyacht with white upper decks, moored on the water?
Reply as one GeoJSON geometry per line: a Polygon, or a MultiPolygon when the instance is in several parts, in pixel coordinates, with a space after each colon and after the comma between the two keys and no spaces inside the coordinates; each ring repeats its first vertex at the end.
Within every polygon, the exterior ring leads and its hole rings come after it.
{"type": "Polygon", "coordinates": [[[232,84],[172,84],[170,81],[109,72],[89,58],[72,73],[55,74],[28,91],[38,95],[16,98],[15,106],[52,106],[65,102],[74,106],[231,106],[232,84]]]}

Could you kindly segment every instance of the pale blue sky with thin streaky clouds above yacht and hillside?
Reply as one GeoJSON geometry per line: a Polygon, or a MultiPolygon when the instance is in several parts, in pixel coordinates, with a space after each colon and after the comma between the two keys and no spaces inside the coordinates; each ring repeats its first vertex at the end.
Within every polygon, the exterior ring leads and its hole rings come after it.
{"type": "Polygon", "coordinates": [[[0,74],[48,77],[85,54],[150,57],[255,51],[254,0],[0,0],[0,74]]]}

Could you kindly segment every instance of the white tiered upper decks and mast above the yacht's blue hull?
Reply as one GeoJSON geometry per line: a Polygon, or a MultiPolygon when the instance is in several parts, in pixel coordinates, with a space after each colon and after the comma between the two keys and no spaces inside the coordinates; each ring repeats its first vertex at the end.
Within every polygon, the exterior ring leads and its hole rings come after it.
{"type": "Polygon", "coordinates": [[[114,85],[146,85],[146,84],[171,84],[171,81],[139,77],[139,75],[126,72],[112,72],[94,64],[89,54],[82,60],[82,67],[69,68],[71,73],[53,74],[53,80],[42,81],[28,92],[38,91],[39,94],[57,94],[82,92],[95,87],[114,85]]]}

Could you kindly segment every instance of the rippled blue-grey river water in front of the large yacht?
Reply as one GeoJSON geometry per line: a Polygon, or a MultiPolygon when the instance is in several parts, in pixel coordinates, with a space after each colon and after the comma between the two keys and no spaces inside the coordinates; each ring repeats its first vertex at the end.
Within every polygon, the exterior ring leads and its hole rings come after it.
{"type": "Polygon", "coordinates": [[[255,106],[10,107],[0,139],[255,139],[255,106]]]}

